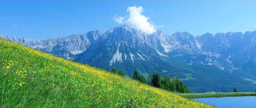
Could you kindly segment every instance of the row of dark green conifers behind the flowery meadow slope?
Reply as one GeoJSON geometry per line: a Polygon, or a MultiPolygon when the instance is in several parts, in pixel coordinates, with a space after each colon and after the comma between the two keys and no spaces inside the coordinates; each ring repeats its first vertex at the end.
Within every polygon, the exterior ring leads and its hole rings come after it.
{"type": "MultiPolygon", "coordinates": [[[[112,69],[111,72],[120,76],[124,76],[122,70],[112,69]]],[[[161,89],[165,89],[168,91],[183,92],[183,93],[190,92],[189,88],[182,83],[181,79],[178,76],[175,76],[174,78],[172,78],[167,75],[165,76],[165,78],[163,78],[162,75],[159,75],[157,72],[156,73],[153,72],[153,75],[149,73],[148,78],[146,79],[144,75],[142,74],[138,75],[138,72],[135,70],[133,73],[133,79],[141,83],[148,84],[161,89]]]]}

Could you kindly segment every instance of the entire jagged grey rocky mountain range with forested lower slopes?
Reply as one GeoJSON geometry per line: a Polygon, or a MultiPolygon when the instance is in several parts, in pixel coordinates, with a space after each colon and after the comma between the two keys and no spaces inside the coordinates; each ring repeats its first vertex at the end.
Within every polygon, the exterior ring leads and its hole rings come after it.
{"type": "Polygon", "coordinates": [[[145,34],[125,25],[43,41],[0,37],[98,68],[122,69],[128,77],[134,70],[178,75],[193,92],[256,90],[256,31],[145,34]]]}

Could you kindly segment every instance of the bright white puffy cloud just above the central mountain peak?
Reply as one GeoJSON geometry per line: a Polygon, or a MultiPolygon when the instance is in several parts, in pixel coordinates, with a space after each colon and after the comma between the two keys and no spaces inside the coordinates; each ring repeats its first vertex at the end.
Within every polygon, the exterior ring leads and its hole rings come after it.
{"type": "Polygon", "coordinates": [[[113,17],[114,21],[119,24],[128,24],[146,34],[156,32],[155,26],[148,21],[149,18],[141,14],[143,12],[142,6],[131,6],[128,7],[126,11],[130,13],[127,20],[125,20],[125,17],[117,17],[117,15],[115,15],[113,17]]]}

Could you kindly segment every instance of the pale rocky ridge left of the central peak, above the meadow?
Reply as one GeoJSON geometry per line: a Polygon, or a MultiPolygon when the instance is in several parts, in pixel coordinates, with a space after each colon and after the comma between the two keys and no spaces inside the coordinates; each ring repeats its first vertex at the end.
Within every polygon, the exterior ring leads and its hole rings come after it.
{"type": "Polygon", "coordinates": [[[75,59],[74,55],[84,52],[91,43],[99,38],[101,34],[102,32],[99,30],[94,30],[85,34],[73,34],[66,37],[52,38],[43,41],[13,37],[10,35],[0,35],[0,37],[31,48],[51,53],[55,56],[75,59]]]}

